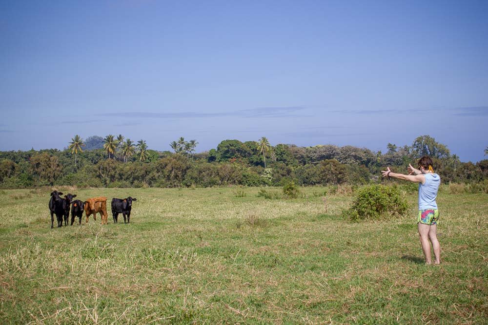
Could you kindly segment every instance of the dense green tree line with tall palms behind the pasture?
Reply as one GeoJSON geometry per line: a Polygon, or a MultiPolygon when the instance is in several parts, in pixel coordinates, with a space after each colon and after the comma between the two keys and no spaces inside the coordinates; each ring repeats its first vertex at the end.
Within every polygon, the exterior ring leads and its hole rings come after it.
{"type": "MultiPolygon", "coordinates": [[[[196,153],[196,140],[183,137],[169,145],[173,152],[148,149],[122,134],[75,135],[64,150],[0,152],[0,187],[73,185],[79,187],[282,186],[366,184],[381,182],[380,170],[405,172],[408,163],[430,155],[443,182],[488,182],[488,160],[461,162],[447,146],[429,135],[412,145],[387,144],[386,153],[354,146],[224,140],[216,149],[196,153]],[[89,148],[89,149],[88,149],[89,148]]],[[[487,148],[488,150],[488,148],[487,148]]],[[[487,153],[485,150],[485,154],[487,153]]]]}

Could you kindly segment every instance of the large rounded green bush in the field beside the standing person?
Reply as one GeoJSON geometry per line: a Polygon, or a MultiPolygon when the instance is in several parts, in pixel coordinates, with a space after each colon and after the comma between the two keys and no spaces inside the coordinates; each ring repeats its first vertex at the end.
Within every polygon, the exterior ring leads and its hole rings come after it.
{"type": "Polygon", "coordinates": [[[403,214],[408,205],[396,187],[370,185],[358,191],[351,208],[343,216],[353,221],[382,220],[393,214],[403,214]]]}

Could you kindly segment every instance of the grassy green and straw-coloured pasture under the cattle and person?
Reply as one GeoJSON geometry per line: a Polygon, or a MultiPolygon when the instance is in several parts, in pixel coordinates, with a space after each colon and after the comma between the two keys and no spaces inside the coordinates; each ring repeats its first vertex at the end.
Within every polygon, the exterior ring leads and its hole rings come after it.
{"type": "Polygon", "coordinates": [[[487,194],[439,194],[426,266],[415,193],[406,216],[351,223],[353,197],[321,188],[61,190],[136,197],[131,224],[50,229],[49,189],[0,190],[2,324],[487,324],[487,194]]]}

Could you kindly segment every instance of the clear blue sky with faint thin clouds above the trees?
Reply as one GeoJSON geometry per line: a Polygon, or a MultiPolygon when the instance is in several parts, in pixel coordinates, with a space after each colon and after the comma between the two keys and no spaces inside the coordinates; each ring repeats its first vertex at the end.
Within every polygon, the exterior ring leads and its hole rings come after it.
{"type": "Polygon", "coordinates": [[[0,150],[488,146],[487,1],[3,1],[0,150]]]}

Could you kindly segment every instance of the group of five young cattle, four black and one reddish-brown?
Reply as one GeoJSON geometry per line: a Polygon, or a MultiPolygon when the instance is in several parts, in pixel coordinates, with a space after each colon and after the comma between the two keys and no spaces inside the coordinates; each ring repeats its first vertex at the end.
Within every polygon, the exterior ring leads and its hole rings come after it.
{"type": "MultiPolygon", "coordinates": [[[[51,211],[51,228],[54,228],[54,215],[58,220],[58,227],[62,226],[64,220],[64,226],[68,225],[69,210],[71,208],[71,226],[75,221],[75,217],[79,218],[81,225],[81,216],[83,211],[86,215],[86,222],[88,223],[88,217],[93,214],[93,219],[97,220],[97,213],[102,216],[102,225],[106,225],[107,222],[107,198],[105,196],[98,196],[88,199],[86,201],[74,200],[76,194],[68,193],[62,196],[62,192],[51,192],[51,199],[49,200],[49,211],[51,211]]],[[[114,223],[117,223],[119,213],[123,215],[123,222],[130,223],[130,211],[132,210],[132,201],[137,201],[136,198],[127,197],[125,199],[112,199],[112,217],[114,223]]]]}

